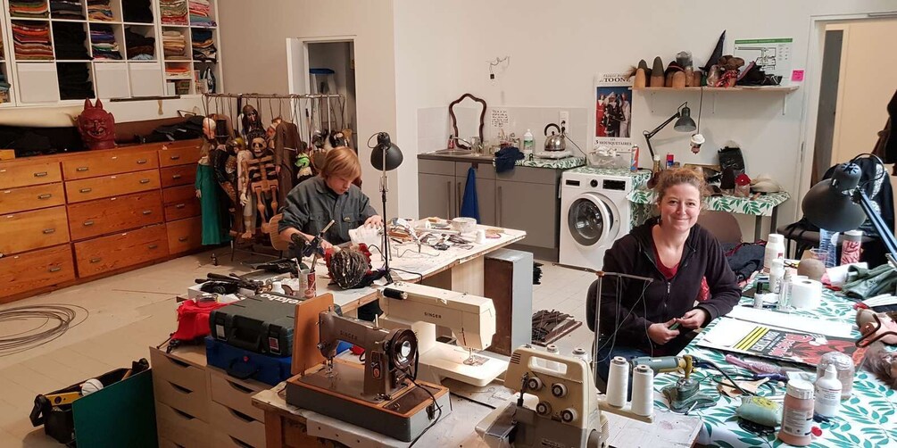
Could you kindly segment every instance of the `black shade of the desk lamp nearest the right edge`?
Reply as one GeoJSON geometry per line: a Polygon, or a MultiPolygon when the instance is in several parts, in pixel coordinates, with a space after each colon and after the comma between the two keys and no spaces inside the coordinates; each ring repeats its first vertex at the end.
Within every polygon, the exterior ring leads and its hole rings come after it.
{"type": "Polygon", "coordinates": [[[831,179],[813,185],[801,202],[806,219],[832,232],[853,230],[862,225],[866,221],[866,212],[851,197],[860,174],[857,164],[842,163],[835,168],[831,179]]]}

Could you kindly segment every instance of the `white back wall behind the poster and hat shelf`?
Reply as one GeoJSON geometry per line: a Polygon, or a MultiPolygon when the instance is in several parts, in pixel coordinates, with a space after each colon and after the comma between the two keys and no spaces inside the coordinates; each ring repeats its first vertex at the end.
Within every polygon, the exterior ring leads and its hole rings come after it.
{"type": "MultiPolygon", "coordinates": [[[[710,0],[606,2],[568,0],[417,0],[396,4],[396,141],[418,142],[418,108],[448,106],[462,93],[483,98],[490,107],[594,108],[593,76],[623,71],[654,56],[668,62],[691,50],[702,65],[727,30],[734,39],[794,38],[793,68],[807,61],[811,16],[893,10],[893,0],[799,0],[729,2],[710,0]],[[489,80],[486,61],[510,56],[506,71],[489,80]]],[[[229,77],[229,82],[232,77],[229,77]]],[[[701,132],[708,138],[692,155],[687,135],[665,130],[652,139],[658,153],[675,152],[685,162],[716,161],[715,150],[735,140],[745,152],[749,174],[770,174],[797,195],[806,90],[779,94],[719,93],[704,95],[701,132]]],[[[698,114],[697,93],[636,94],[633,134],[651,129],[688,100],[698,114]]],[[[594,125],[594,114],[589,114],[594,125]]],[[[670,126],[672,128],[672,126],[670,126]]],[[[526,130],[518,130],[518,135],[526,130]]],[[[587,140],[585,130],[575,133],[587,140]]],[[[534,132],[535,134],[535,132],[534,132]]],[[[643,144],[643,139],[636,142],[643,144]]],[[[409,144],[409,143],[405,143],[409,144]]],[[[643,146],[644,147],[644,146],[643,146]]],[[[588,151],[588,150],[587,150],[588,151]]],[[[649,166],[648,151],[641,164],[649,166]]],[[[809,159],[808,159],[809,160],[809,159]]],[[[416,166],[400,168],[401,202],[417,198],[416,166]]],[[[808,162],[809,163],[809,162],[808,162]]],[[[783,206],[779,223],[797,217],[797,198],[783,206]]],[[[753,220],[741,220],[745,234],[753,220]]]]}

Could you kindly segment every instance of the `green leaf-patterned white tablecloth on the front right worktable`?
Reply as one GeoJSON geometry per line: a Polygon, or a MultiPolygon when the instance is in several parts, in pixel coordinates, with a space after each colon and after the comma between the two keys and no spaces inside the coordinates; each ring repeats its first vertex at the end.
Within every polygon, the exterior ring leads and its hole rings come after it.
{"type": "MultiPolygon", "coordinates": [[[[753,299],[742,297],[742,305],[750,306],[753,299]]],[[[825,290],[822,305],[811,311],[794,311],[793,314],[809,317],[823,318],[832,321],[853,323],[855,312],[851,306],[853,302],[837,297],[825,290]]],[[[710,326],[715,323],[711,323],[710,326]]],[[[704,332],[706,333],[706,331],[704,332]]],[[[859,337],[859,332],[854,325],[854,337],[859,337]]],[[[740,367],[732,366],[725,360],[725,354],[714,349],[705,349],[697,346],[701,340],[699,334],[688,345],[683,353],[691,354],[696,358],[708,359],[731,374],[748,374],[740,367]]],[[[794,366],[794,365],[791,365],[794,366]]],[[[809,369],[807,369],[809,371],[809,369]]],[[[815,372],[813,372],[815,374],[815,372]]],[[[708,392],[717,396],[715,384],[710,381],[710,376],[716,373],[711,370],[700,369],[695,374],[697,378],[706,378],[701,382],[702,392],[708,392]]],[[[673,374],[660,374],[655,378],[655,390],[659,392],[664,386],[675,383],[679,376],[673,374]]],[[[771,394],[769,387],[762,386],[762,395],[771,394]]],[[[784,388],[776,387],[774,394],[781,395],[784,388]]],[[[656,396],[661,396],[659,393],[656,396]]],[[[716,406],[708,409],[692,411],[692,415],[701,416],[704,424],[701,434],[698,435],[699,444],[711,446],[789,446],[783,444],[775,435],[753,435],[738,426],[738,418],[735,415],[736,408],[741,404],[741,399],[723,396],[716,406]]],[[[655,401],[658,409],[668,409],[663,399],[655,401]]],[[[814,447],[877,447],[897,446],[897,392],[879,381],[875,375],[858,370],[853,383],[853,396],[847,401],[841,401],[838,417],[831,423],[815,424],[823,430],[822,437],[814,439],[810,446],[814,447]]]]}

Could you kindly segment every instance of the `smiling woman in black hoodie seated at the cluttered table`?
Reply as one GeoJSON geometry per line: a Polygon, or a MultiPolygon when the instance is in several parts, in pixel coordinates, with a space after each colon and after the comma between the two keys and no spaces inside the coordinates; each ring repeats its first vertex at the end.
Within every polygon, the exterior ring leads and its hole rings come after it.
{"type": "MultiPolygon", "coordinates": [[[[655,185],[659,216],[633,228],[605,253],[603,269],[653,279],[605,276],[598,322],[598,375],[611,358],[679,353],[692,330],[736,306],[741,289],[718,241],[696,224],[707,185],[690,168],[663,171],[655,185]]],[[[588,328],[595,329],[597,281],[588,289],[588,328]]]]}

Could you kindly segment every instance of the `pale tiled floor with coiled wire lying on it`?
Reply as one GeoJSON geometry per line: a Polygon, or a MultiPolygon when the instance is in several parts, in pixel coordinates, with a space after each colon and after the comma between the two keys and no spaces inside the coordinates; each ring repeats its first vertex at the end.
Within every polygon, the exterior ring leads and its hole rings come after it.
{"type": "MultiPolygon", "coordinates": [[[[207,272],[248,271],[229,262],[229,251],[218,250],[222,265],[213,266],[210,254],[181,257],[170,262],[126,272],[0,305],[15,306],[67,304],[86,308],[87,320],[43,346],[0,357],[0,446],[60,446],[44,435],[43,428],[31,426],[28,415],[35,395],[46,393],[129,366],[148,358],[147,347],[159,345],[176,328],[174,296],[186,292],[194,279],[207,272]]],[[[572,314],[583,325],[556,342],[562,354],[575,347],[588,349],[592,333],[584,323],[585,299],[595,275],[544,263],[542,284],[534,287],[533,308],[557,309],[572,314]]],[[[77,320],[82,319],[79,314],[77,320]]],[[[33,323],[4,324],[0,336],[21,332],[33,323]]]]}

